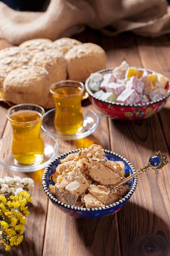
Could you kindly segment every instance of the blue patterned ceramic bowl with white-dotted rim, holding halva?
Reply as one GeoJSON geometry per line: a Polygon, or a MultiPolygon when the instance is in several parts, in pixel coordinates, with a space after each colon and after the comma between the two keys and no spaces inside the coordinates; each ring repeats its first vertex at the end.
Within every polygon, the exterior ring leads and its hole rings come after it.
{"type": "MultiPolygon", "coordinates": [[[[51,175],[55,171],[55,168],[57,167],[58,164],[60,164],[60,160],[66,157],[69,154],[72,153],[77,153],[79,150],[83,150],[84,148],[81,149],[76,149],[76,150],[71,150],[69,152],[63,153],[62,155],[59,155],[57,158],[53,159],[51,163],[45,168],[43,175],[42,175],[42,186],[44,189],[44,192],[50,199],[50,201],[58,207],[61,211],[64,213],[67,213],[69,216],[73,216],[75,218],[79,219],[100,219],[106,216],[110,216],[117,211],[119,211],[130,199],[132,194],[134,193],[136,186],[137,186],[137,177],[131,179],[128,182],[129,186],[129,192],[124,196],[124,198],[121,198],[118,202],[115,202],[110,205],[106,205],[105,207],[96,207],[96,208],[85,208],[85,207],[75,207],[71,206],[68,204],[65,204],[57,198],[55,198],[54,195],[52,195],[49,191],[49,185],[53,184],[53,181],[51,180],[51,175]]],[[[118,155],[117,153],[110,151],[110,150],[104,150],[105,156],[109,160],[113,161],[122,161],[125,164],[125,177],[127,177],[129,174],[133,174],[135,172],[134,167],[130,162],[128,162],[127,159],[122,157],[121,155],[118,155]]]]}

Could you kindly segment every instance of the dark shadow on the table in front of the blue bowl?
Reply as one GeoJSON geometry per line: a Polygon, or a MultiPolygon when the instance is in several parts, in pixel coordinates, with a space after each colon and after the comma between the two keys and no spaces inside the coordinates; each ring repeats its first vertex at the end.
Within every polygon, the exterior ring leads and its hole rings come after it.
{"type": "Polygon", "coordinates": [[[75,224],[91,256],[170,256],[166,220],[132,202],[113,216],[75,224]]]}

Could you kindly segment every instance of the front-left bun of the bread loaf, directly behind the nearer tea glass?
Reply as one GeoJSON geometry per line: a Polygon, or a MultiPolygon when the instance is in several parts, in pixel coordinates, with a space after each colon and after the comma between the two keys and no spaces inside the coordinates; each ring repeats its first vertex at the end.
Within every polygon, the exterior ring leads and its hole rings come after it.
{"type": "Polygon", "coordinates": [[[15,104],[29,102],[45,106],[48,94],[46,84],[48,84],[48,72],[44,67],[18,67],[9,72],[4,79],[5,99],[15,104]]]}

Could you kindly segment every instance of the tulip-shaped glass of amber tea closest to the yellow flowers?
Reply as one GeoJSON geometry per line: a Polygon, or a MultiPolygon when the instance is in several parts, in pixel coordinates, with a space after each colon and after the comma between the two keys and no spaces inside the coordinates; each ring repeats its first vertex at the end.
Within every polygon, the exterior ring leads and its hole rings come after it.
{"type": "Polygon", "coordinates": [[[7,111],[13,129],[15,164],[37,164],[43,159],[41,124],[44,113],[44,109],[36,104],[18,104],[7,111]]]}

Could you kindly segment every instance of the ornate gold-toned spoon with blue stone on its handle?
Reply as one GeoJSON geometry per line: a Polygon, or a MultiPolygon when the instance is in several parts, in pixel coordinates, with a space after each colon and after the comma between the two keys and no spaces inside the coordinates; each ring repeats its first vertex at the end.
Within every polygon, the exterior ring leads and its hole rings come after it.
{"type": "Polygon", "coordinates": [[[144,165],[142,168],[140,168],[138,171],[136,171],[132,175],[126,177],[124,180],[117,182],[114,186],[110,186],[109,190],[110,191],[115,190],[119,186],[125,184],[128,180],[136,177],[137,175],[143,173],[144,171],[147,171],[148,169],[160,170],[166,164],[170,164],[170,162],[166,160],[166,155],[162,155],[161,151],[159,150],[156,154],[150,155],[148,157],[148,163],[146,165],[144,165]]]}

